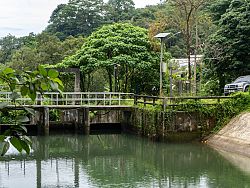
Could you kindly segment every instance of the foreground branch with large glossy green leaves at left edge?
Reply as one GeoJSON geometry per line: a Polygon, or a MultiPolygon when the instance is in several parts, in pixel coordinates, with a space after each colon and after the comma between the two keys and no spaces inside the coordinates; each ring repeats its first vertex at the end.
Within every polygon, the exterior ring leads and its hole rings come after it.
{"type": "Polygon", "coordinates": [[[63,84],[58,79],[58,72],[56,70],[46,70],[42,66],[38,66],[35,71],[16,72],[11,68],[4,68],[0,71],[0,82],[8,86],[10,94],[10,101],[0,102],[1,116],[8,116],[9,105],[14,105],[14,115],[11,120],[12,126],[7,129],[3,135],[0,135],[0,152],[4,155],[10,144],[13,145],[19,152],[25,151],[30,153],[31,140],[26,136],[27,129],[23,126],[24,123],[29,122],[29,117],[25,114],[17,112],[17,108],[22,107],[28,114],[35,114],[35,110],[22,106],[18,103],[20,97],[26,97],[34,101],[37,92],[56,90],[61,92],[63,84]]]}

